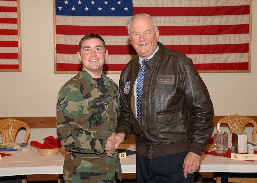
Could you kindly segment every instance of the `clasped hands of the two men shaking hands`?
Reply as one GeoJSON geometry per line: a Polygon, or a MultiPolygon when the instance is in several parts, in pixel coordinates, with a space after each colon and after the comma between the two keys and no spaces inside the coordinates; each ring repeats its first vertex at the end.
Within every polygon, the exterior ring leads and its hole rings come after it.
{"type": "Polygon", "coordinates": [[[112,132],[112,135],[108,137],[105,152],[108,156],[112,157],[112,155],[117,150],[118,146],[124,141],[125,134],[124,133],[114,133],[112,132]]]}

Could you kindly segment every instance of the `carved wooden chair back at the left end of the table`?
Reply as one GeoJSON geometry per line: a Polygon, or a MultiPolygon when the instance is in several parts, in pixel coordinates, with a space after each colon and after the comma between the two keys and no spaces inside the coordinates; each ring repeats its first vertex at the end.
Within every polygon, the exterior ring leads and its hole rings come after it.
{"type": "Polygon", "coordinates": [[[20,120],[12,119],[12,118],[0,120],[0,133],[2,137],[2,143],[14,143],[16,135],[19,129],[21,128],[26,129],[24,142],[28,143],[28,138],[30,135],[30,127],[27,123],[20,120]]]}

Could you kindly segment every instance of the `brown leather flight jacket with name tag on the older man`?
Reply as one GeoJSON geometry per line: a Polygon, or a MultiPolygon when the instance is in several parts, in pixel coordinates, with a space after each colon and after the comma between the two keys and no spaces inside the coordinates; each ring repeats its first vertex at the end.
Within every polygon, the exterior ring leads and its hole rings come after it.
{"type": "Polygon", "coordinates": [[[202,155],[213,133],[214,111],[207,87],[190,58],[160,42],[158,46],[145,62],[141,123],[134,97],[139,57],[122,70],[117,133],[124,133],[125,139],[135,134],[137,153],[148,159],[184,151],[202,155]]]}

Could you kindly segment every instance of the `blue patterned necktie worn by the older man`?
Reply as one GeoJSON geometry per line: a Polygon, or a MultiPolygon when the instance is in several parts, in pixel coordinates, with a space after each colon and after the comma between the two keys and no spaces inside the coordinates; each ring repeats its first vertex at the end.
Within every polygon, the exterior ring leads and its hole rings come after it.
{"type": "Polygon", "coordinates": [[[145,63],[148,59],[142,61],[142,67],[137,75],[136,81],[136,119],[141,123],[141,97],[143,93],[143,83],[145,76],[145,63]]]}

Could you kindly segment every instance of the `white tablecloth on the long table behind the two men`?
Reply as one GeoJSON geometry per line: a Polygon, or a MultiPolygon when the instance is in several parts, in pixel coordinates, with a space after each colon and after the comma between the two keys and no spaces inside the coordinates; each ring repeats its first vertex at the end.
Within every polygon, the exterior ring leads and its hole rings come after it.
{"type": "MultiPolygon", "coordinates": [[[[120,149],[135,150],[135,144],[121,144],[120,149]]],[[[0,176],[31,174],[62,174],[65,149],[55,156],[42,156],[34,148],[29,152],[0,151],[11,156],[2,157],[0,176]]],[[[135,173],[136,155],[121,159],[123,173],[135,173]]],[[[257,172],[257,161],[232,160],[226,157],[202,155],[198,172],[257,172]]]]}

